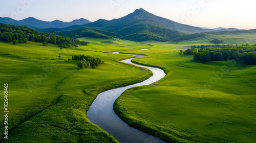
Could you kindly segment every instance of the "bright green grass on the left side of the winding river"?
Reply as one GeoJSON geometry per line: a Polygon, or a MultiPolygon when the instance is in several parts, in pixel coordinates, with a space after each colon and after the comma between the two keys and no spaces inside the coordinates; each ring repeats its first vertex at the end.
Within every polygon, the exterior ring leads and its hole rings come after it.
{"type": "MultiPolygon", "coordinates": [[[[92,43],[97,40],[104,39],[91,39],[92,43]]],[[[98,93],[151,76],[147,69],[117,62],[131,56],[110,53],[137,50],[138,47],[117,45],[113,48],[112,45],[94,44],[60,50],[51,44],[42,46],[41,43],[29,42],[13,45],[0,42],[1,82],[9,84],[8,141],[117,142],[113,136],[93,125],[87,119],[86,112],[98,93]],[[95,69],[79,70],[76,62],[67,61],[78,54],[99,57],[105,64],[95,69]],[[132,75],[130,71],[136,73],[132,75]],[[31,91],[27,83],[33,86],[31,91]]],[[[0,92],[4,93],[3,88],[0,92]]],[[[4,98],[0,101],[4,103],[4,98]]],[[[4,124],[1,124],[1,130],[3,127],[4,124]]]]}

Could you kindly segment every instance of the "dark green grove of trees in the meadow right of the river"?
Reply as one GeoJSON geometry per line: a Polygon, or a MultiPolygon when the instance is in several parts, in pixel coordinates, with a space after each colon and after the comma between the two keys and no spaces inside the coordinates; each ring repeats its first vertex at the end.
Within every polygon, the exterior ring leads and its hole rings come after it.
{"type": "Polygon", "coordinates": [[[199,49],[198,52],[195,51],[195,49],[188,49],[186,51],[189,51],[189,53],[194,53],[194,59],[200,62],[236,59],[243,60],[247,64],[256,64],[256,45],[236,45],[229,48],[203,47],[199,49]]]}

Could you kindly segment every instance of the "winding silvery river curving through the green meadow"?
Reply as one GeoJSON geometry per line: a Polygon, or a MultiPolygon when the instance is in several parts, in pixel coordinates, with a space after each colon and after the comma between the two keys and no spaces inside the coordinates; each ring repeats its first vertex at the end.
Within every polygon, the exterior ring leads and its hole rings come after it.
{"type": "MultiPolygon", "coordinates": [[[[148,50],[148,49],[142,49],[142,50],[148,50]]],[[[119,54],[119,52],[114,52],[113,54],[119,54]]],[[[129,54],[129,55],[135,55],[135,54],[129,54]]],[[[135,56],[136,58],[145,57],[144,55],[135,55],[135,56]]],[[[130,127],[128,124],[123,122],[115,114],[113,110],[113,104],[115,100],[125,90],[135,86],[150,85],[156,81],[159,81],[165,76],[165,73],[162,69],[138,65],[138,64],[132,63],[131,62],[132,59],[122,60],[121,62],[150,69],[154,75],[141,83],[104,91],[98,94],[97,98],[94,100],[94,102],[92,103],[92,105],[90,106],[87,112],[87,117],[93,124],[98,125],[100,128],[104,129],[106,132],[113,135],[121,143],[164,142],[163,140],[156,138],[155,136],[152,136],[138,129],[130,127]]]]}

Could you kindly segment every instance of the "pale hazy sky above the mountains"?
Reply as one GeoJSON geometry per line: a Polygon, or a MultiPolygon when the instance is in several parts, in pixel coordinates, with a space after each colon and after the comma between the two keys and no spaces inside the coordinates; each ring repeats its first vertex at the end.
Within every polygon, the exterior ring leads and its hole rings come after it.
{"type": "Polygon", "coordinates": [[[191,26],[256,29],[255,7],[253,0],[0,0],[0,17],[111,20],[143,8],[191,26]]]}

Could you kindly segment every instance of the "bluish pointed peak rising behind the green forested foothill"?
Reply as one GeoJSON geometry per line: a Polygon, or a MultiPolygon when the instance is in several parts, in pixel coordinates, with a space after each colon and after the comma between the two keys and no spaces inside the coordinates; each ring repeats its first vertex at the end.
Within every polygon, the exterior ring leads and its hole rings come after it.
{"type": "MultiPolygon", "coordinates": [[[[162,27],[164,29],[184,32],[184,33],[200,33],[200,32],[210,32],[210,31],[222,31],[226,29],[202,29],[199,27],[189,26],[189,25],[183,25],[181,23],[156,16],[154,14],[151,14],[144,9],[137,9],[135,12],[128,14],[122,18],[119,19],[113,19],[113,20],[103,20],[99,19],[95,22],[89,23],[87,25],[84,25],[86,27],[98,27],[101,29],[104,29],[106,31],[110,32],[117,32],[119,34],[122,33],[122,29],[125,29],[126,27],[131,27],[133,25],[136,25],[138,23],[151,23],[155,26],[162,27]]],[[[237,29],[233,29],[237,30],[237,29]]]]}

